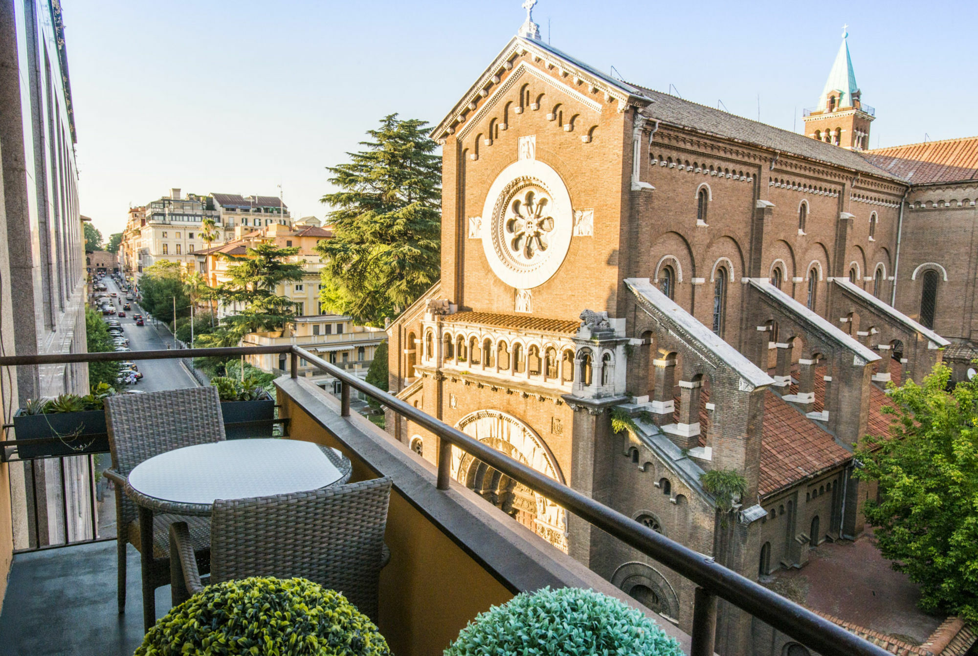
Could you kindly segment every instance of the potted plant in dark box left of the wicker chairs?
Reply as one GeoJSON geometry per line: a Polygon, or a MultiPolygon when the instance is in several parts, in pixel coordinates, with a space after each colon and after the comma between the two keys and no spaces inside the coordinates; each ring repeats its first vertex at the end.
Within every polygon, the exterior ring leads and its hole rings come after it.
{"type": "Polygon", "coordinates": [[[101,382],[86,396],[62,394],[56,399],[27,401],[14,415],[18,456],[27,459],[108,452],[104,403],[114,393],[108,383],[101,382]]]}

